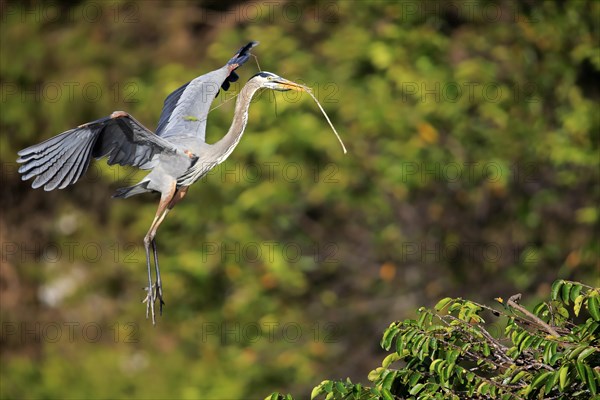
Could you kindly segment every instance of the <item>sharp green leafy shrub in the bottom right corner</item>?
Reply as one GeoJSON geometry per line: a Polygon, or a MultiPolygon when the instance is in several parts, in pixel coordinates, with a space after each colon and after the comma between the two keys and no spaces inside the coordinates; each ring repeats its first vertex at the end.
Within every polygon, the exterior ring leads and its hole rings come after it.
{"type": "Polygon", "coordinates": [[[520,297],[497,298],[495,308],[449,297],[420,308],[384,332],[381,346],[393,351],[369,374],[372,386],[327,380],[311,398],[598,398],[600,289],[558,280],[532,312],[520,297]]]}

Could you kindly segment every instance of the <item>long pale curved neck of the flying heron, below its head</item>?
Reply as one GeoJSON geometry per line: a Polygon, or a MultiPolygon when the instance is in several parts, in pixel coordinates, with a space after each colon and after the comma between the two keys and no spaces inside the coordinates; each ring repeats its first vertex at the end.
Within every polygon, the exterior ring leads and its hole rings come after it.
{"type": "Polygon", "coordinates": [[[235,112],[229,131],[221,138],[221,140],[214,144],[214,147],[217,149],[217,163],[220,164],[225,161],[233,149],[235,149],[235,146],[240,142],[244,129],[246,129],[246,123],[248,122],[248,108],[250,107],[250,101],[258,88],[259,86],[256,82],[249,81],[240,91],[235,103],[235,112]]]}

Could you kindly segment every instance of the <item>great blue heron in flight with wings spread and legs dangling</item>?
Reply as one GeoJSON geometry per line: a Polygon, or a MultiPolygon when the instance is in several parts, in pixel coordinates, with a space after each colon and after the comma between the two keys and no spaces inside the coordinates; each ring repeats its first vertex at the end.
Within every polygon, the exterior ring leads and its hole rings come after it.
{"type": "Polygon", "coordinates": [[[219,92],[227,90],[239,77],[234,72],[250,57],[258,42],[242,47],[223,67],[197,77],[171,93],[164,102],[156,134],[124,111],[80,125],[35,146],[19,151],[19,172],[26,180],[36,177],[33,188],[63,189],[77,182],[92,158],[108,157],[108,164],[131,165],[151,170],[139,183],[120,188],[113,197],[127,198],[146,192],[159,192],[160,203],[152,225],[144,237],[148,288],[146,318],[152,315],[158,299],[162,315],[163,293],[158,265],[156,231],[164,218],[183,197],[188,187],[222,163],[239,143],[248,107],[258,89],[304,90],[304,86],[270,72],[254,75],[244,85],[235,104],[229,131],[214,144],[205,142],[206,119],[219,92]],[[150,246],[154,255],[156,280],[152,284],[150,246]]]}

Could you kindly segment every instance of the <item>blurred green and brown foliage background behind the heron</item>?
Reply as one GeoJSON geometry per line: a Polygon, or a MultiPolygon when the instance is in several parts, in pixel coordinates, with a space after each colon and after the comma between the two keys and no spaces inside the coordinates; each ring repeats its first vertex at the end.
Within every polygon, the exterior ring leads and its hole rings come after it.
{"type": "Polygon", "coordinates": [[[597,2],[0,7],[2,398],[308,396],[363,379],[418,305],[600,286],[597,2]],[[157,201],[110,199],[143,174],[97,162],[45,193],[16,152],[119,109],[153,127],[166,95],[249,40],[315,89],[349,154],[308,96],[260,96],[161,227],[153,328],[139,301],[157,201]]]}

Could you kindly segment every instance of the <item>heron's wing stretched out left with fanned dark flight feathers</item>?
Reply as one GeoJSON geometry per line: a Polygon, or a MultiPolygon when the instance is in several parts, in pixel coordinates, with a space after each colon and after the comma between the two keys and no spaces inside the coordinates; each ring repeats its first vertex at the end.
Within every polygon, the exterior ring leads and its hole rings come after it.
{"type": "Polygon", "coordinates": [[[31,186],[50,191],[64,189],[87,170],[92,158],[108,157],[108,164],[148,168],[154,156],[175,152],[168,141],[156,136],[133,117],[115,111],[45,142],[19,151],[21,179],[36,177],[31,186]]]}

